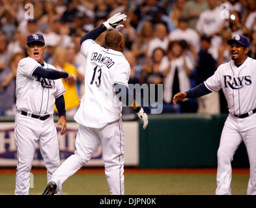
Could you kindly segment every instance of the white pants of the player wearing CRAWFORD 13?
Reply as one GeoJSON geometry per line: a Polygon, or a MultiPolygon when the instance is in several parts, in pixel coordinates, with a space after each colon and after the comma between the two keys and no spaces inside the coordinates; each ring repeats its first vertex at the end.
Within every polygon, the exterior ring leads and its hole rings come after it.
{"type": "Polygon", "coordinates": [[[109,192],[111,195],[124,194],[124,131],[121,120],[101,129],[79,125],[74,155],[68,157],[51,177],[58,190],[68,177],[87,164],[100,144],[109,192]]]}

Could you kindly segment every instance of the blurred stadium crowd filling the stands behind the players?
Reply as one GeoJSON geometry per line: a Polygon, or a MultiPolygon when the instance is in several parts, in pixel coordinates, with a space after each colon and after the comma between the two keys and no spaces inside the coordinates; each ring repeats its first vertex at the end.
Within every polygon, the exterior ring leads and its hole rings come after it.
{"type": "MultiPolygon", "coordinates": [[[[84,93],[80,38],[117,12],[128,15],[121,32],[131,66],[130,84],[163,84],[164,102],[158,103],[163,112],[227,112],[221,91],[176,105],[171,101],[174,94],[202,83],[231,60],[227,45],[231,37],[248,36],[249,57],[256,58],[255,0],[1,0],[0,115],[15,114],[16,68],[27,57],[27,35],[36,32],[46,41],[44,60],[78,78],[76,84],[63,82],[67,115],[74,115],[84,93]],[[25,18],[27,3],[33,5],[33,19],[25,18]]],[[[104,45],[104,33],[96,42],[104,45]]],[[[161,98],[157,87],[149,96],[161,98]]],[[[154,108],[142,104],[148,112],[154,108]]],[[[135,118],[129,108],[123,114],[135,118]]]]}

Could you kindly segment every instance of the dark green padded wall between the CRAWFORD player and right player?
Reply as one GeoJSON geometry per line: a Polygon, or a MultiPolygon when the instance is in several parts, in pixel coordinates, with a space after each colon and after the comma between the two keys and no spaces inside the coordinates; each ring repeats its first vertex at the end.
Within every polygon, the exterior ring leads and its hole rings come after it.
{"type": "MultiPolygon", "coordinates": [[[[149,116],[146,130],[139,125],[139,167],[216,167],[220,135],[226,114],[164,114],[149,116]]],[[[234,167],[248,166],[244,144],[234,167]]]]}

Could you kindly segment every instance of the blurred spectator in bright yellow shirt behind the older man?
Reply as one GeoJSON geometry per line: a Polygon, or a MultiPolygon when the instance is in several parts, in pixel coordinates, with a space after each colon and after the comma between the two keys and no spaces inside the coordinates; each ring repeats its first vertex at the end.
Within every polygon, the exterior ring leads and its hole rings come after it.
{"type": "MultiPolygon", "coordinates": [[[[68,59],[67,56],[68,54],[66,49],[60,47],[57,48],[54,55],[53,66],[55,66],[55,68],[59,71],[72,73],[77,76],[76,67],[66,61],[68,59]]],[[[63,80],[63,85],[66,90],[64,93],[66,115],[74,116],[79,106],[79,96],[76,89],[76,84],[69,83],[68,81],[65,82],[63,80]]]]}

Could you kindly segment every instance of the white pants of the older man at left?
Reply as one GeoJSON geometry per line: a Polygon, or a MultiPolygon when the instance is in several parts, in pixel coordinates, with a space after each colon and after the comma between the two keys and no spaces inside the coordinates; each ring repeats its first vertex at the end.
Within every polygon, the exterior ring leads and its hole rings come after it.
{"type": "MultiPolygon", "coordinates": [[[[59,144],[53,116],[42,121],[16,112],[14,135],[18,147],[15,194],[27,195],[36,140],[39,140],[40,152],[47,168],[48,182],[51,174],[59,167],[59,144]]],[[[58,194],[62,194],[62,191],[58,194]]]]}

